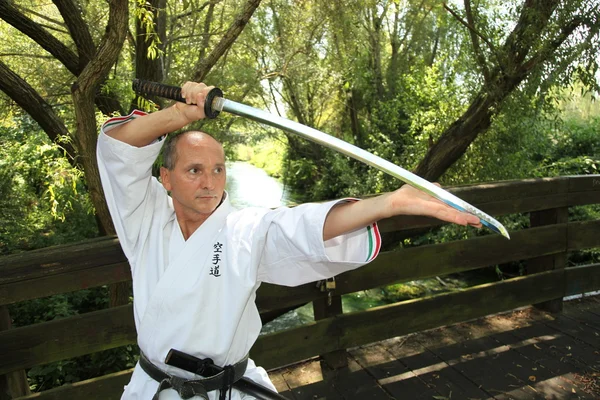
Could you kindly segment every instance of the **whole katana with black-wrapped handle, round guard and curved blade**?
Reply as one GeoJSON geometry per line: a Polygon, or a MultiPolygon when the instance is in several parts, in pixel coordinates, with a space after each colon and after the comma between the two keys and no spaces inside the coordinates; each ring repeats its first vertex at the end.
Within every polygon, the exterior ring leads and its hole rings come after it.
{"type": "MultiPolygon", "coordinates": [[[[181,97],[181,88],[177,86],[164,85],[157,82],[149,82],[140,79],[133,81],[133,90],[136,93],[146,96],[159,96],[171,100],[181,101],[185,103],[185,99],[181,97]]],[[[275,128],[282,129],[286,132],[298,135],[305,139],[316,142],[322,146],[336,150],[348,157],[352,157],[355,160],[363,162],[371,167],[377,168],[394,178],[400,179],[401,181],[419,189],[436,199],[443,201],[450,207],[453,207],[459,211],[467,212],[477,216],[482,225],[487,226],[492,231],[501,234],[507,239],[510,239],[506,228],[494,219],[492,216],[484,213],[478,208],[472,206],[466,201],[458,198],[452,193],[434,185],[433,183],[421,178],[418,175],[413,174],[410,171],[405,170],[381,157],[378,157],[360,147],[354,146],[341,139],[318,131],[314,128],[302,125],[298,122],[290,121],[282,118],[278,115],[268,113],[266,111],[247,106],[245,104],[237,103],[235,101],[224,98],[223,92],[219,88],[212,89],[206,96],[204,103],[204,113],[207,118],[216,118],[221,111],[228,112],[240,117],[248,118],[256,122],[260,122],[275,128]]]]}

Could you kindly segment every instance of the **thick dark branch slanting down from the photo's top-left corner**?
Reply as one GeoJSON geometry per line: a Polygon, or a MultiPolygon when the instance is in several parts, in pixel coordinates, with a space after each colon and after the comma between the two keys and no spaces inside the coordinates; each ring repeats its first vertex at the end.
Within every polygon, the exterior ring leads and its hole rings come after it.
{"type": "Polygon", "coordinates": [[[8,0],[0,0],[0,18],[42,46],[44,50],[64,64],[73,75],[79,74],[81,69],[77,55],[32,19],[26,17],[8,0]]]}

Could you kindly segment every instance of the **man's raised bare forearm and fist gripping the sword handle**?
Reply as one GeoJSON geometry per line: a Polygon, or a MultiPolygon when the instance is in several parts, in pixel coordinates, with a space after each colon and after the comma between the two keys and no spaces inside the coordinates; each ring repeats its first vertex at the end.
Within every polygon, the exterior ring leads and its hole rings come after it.
{"type": "Polygon", "coordinates": [[[181,88],[186,103],[177,102],[169,108],[117,126],[106,134],[132,146],[147,146],[164,134],[203,119],[204,100],[212,88],[204,83],[186,82],[181,88]]]}

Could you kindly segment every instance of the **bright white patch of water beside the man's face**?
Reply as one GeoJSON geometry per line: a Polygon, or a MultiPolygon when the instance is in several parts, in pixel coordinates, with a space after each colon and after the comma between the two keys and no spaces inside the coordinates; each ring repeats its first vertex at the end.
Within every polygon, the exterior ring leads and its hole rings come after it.
{"type": "Polygon", "coordinates": [[[240,209],[286,205],[283,184],[247,162],[227,163],[227,192],[231,204],[240,209]]]}

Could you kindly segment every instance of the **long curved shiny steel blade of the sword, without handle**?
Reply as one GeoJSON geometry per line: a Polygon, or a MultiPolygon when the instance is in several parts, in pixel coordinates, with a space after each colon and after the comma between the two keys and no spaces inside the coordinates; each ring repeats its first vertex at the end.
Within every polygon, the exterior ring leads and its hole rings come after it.
{"type": "Polygon", "coordinates": [[[360,147],[356,147],[348,142],[306,125],[302,125],[298,122],[290,121],[278,115],[250,107],[245,104],[237,103],[223,97],[216,97],[212,102],[212,107],[218,111],[225,111],[230,114],[272,126],[274,128],[282,129],[286,132],[298,135],[307,140],[311,140],[332,150],[336,150],[348,157],[352,157],[355,160],[370,165],[371,167],[377,168],[380,171],[383,171],[394,178],[400,179],[401,181],[435,197],[436,199],[443,201],[450,207],[453,207],[459,211],[476,215],[481,220],[483,225],[487,226],[492,231],[501,234],[505,238],[510,239],[508,231],[504,225],[502,225],[492,216],[472,206],[452,193],[434,185],[426,179],[423,179],[402,167],[376,156],[375,154],[369,153],[360,147]]]}

